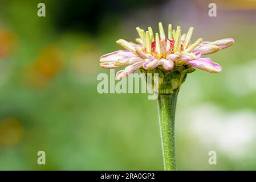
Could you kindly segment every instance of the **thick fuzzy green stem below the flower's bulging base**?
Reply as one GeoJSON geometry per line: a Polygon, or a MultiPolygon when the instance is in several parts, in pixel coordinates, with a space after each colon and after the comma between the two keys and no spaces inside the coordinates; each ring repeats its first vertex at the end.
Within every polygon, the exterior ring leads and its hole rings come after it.
{"type": "Polygon", "coordinates": [[[178,92],[173,94],[160,94],[158,97],[159,125],[166,171],[176,170],[176,151],[174,135],[174,118],[178,92]]]}

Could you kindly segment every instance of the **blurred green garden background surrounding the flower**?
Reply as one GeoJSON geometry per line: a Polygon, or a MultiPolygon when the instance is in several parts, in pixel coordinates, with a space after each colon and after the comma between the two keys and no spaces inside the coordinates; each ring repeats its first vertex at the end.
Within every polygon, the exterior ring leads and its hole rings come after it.
{"type": "Polygon", "coordinates": [[[156,100],[99,94],[99,57],[135,28],[194,27],[234,38],[210,55],[218,74],[189,74],[178,97],[178,169],[256,169],[256,1],[0,1],[0,169],[162,170],[156,100]],[[37,16],[39,2],[46,17],[37,16]],[[217,17],[209,17],[209,3],[217,17]],[[37,152],[46,152],[46,165],[37,152]],[[208,152],[217,152],[217,165],[208,152]]]}

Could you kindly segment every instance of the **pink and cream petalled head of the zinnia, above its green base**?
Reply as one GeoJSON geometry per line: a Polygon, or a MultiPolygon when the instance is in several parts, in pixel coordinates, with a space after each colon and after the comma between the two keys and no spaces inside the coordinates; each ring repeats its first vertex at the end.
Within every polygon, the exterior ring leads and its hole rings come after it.
{"type": "Polygon", "coordinates": [[[190,27],[187,34],[181,34],[181,27],[178,26],[176,30],[173,30],[172,24],[169,24],[168,35],[165,36],[161,22],[159,23],[159,33],[156,33],[155,36],[151,27],[148,27],[148,31],[139,27],[136,30],[139,34],[139,38],[136,39],[137,44],[119,39],[116,43],[126,50],[115,51],[100,57],[102,68],[113,69],[127,66],[124,70],[116,73],[117,79],[127,77],[137,69],[150,71],[160,67],[165,71],[194,67],[218,73],[222,69],[221,65],[214,63],[208,57],[202,58],[201,55],[217,52],[234,43],[232,38],[214,42],[203,42],[202,38],[199,38],[194,43],[190,43],[194,28],[190,27]]]}

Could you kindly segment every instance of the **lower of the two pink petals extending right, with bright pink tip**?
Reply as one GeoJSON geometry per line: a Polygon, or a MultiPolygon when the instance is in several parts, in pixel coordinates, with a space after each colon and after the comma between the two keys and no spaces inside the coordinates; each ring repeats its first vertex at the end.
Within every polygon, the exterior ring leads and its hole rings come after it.
{"type": "Polygon", "coordinates": [[[192,67],[202,69],[211,73],[221,72],[221,65],[214,63],[210,58],[199,58],[192,61],[186,61],[186,63],[192,65],[192,67]]]}

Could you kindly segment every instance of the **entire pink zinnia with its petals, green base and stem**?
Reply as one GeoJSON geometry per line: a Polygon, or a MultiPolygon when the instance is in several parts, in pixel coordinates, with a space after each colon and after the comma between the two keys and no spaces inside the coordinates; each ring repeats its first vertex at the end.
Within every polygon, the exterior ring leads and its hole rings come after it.
{"type": "Polygon", "coordinates": [[[117,79],[127,77],[138,69],[146,74],[159,75],[157,82],[159,87],[154,91],[159,93],[157,108],[164,169],[176,170],[174,118],[180,86],[185,81],[187,73],[193,72],[194,68],[211,73],[220,72],[222,69],[220,64],[201,55],[229,47],[234,43],[234,39],[202,42],[202,38],[199,38],[196,42],[190,43],[194,28],[189,28],[187,34],[181,35],[181,28],[178,26],[176,30],[172,30],[171,24],[169,24],[166,38],[161,22],[159,23],[160,33],[156,33],[155,37],[151,27],[146,32],[139,27],[136,29],[140,36],[136,39],[138,44],[123,39],[117,40],[117,43],[127,50],[101,56],[100,65],[108,69],[127,66],[116,73],[117,79]]]}

